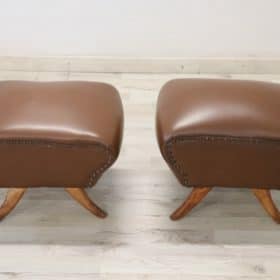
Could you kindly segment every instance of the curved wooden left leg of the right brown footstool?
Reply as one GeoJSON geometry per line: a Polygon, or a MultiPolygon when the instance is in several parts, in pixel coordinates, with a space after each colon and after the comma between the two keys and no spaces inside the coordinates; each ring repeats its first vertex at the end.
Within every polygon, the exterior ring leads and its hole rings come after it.
{"type": "Polygon", "coordinates": [[[185,202],[170,216],[175,221],[183,218],[212,190],[212,187],[194,188],[185,202]]]}

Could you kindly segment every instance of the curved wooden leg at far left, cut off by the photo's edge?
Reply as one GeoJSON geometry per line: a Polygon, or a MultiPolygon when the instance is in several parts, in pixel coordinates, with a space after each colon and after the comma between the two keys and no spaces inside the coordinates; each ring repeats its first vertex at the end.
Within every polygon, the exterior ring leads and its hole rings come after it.
{"type": "Polygon", "coordinates": [[[19,203],[27,188],[12,188],[0,207],[0,220],[4,219],[19,203]]]}

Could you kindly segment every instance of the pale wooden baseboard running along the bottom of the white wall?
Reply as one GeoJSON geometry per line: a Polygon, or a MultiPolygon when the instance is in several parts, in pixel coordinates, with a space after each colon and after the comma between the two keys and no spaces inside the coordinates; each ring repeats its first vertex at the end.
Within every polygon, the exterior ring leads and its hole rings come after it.
{"type": "Polygon", "coordinates": [[[280,58],[1,57],[2,71],[280,74],[280,58]]]}

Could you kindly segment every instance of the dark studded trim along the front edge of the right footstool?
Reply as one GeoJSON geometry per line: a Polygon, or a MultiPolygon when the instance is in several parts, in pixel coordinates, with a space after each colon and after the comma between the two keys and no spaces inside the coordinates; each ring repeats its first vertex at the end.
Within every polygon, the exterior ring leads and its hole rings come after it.
{"type": "Polygon", "coordinates": [[[173,150],[176,143],[224,143],[227,142],[228,144],[253,144],[253,145],[277,145],[280,146],[279,140],[274,139],[265,139],[265,138],[256,138],[256,137],[234,137],[234,136],[208,136],[208,135],[199,135],[199,136],[185,136],[185,135],[178,135],[173,136],[169,140],[166,141],[164,145],[164,150],[166,151],[167,161],[173,167],[174,170],[180,174],[183,178],[183,185],[189,184],[189,177],[188,173],[183,170],[182,166],[176,160],[173,150]]]}

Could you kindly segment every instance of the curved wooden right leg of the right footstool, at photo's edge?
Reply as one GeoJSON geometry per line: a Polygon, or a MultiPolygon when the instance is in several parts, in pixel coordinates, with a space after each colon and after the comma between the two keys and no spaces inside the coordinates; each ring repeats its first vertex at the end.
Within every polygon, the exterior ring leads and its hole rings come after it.
{"type": "Polygon", "coordinates": [[[280,224],[280,212],[273,202],[270,190],[253,189],[253,192],[268,215],[270,215],[276,223],[280,224]]]}

